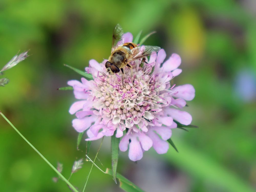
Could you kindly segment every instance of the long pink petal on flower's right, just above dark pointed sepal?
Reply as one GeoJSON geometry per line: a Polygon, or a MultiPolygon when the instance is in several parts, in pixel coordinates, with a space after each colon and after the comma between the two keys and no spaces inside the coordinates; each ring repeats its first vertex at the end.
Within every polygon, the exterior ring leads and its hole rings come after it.
{"type": "Polygon", "coordinates": [[[172,116],[174,120],[180,122],[183,125],[189,125],[192,121],[192,116],[186,111],[169,108],[166,110],[166,114],[172,116]]]}

